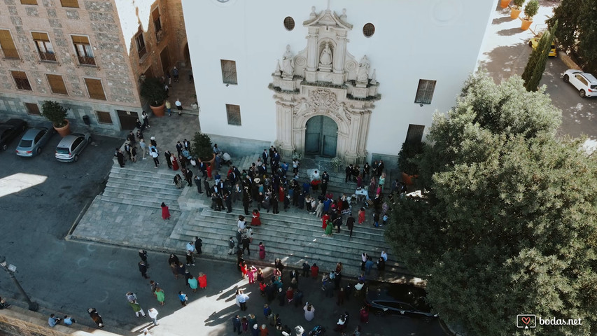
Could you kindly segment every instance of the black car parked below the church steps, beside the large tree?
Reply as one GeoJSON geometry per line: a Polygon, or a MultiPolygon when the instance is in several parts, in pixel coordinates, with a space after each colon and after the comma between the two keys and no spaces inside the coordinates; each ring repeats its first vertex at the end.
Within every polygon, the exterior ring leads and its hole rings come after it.
{"type": "Polygon", "coordinates": [[[427,293],[416,286],[391,283],[380,288],[367,288],[365,304],[375,314],[396,314],[409,317],[434,318],[427,304],[427,293]]]}

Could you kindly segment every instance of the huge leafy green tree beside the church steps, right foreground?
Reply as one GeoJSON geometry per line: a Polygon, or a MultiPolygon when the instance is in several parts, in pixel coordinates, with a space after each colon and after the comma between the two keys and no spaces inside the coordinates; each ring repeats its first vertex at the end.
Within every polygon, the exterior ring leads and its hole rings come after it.
{"type": "Polygon", "coordinates": [[[555,139],[560,120],[542,88],[471,76],[415,159],[426,200],[392,209],[397,258],[471,335],[526,335],[517,314],[583,321],[535,335],[597,332],[597,164],[580,141],[555,139]]]}

